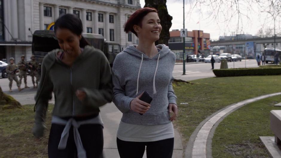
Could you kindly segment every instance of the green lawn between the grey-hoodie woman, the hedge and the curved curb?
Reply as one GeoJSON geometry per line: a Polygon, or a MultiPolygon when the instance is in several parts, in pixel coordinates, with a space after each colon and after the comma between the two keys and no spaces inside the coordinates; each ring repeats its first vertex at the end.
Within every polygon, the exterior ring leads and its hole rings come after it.
{"type": "Polygon", "coordinates": [[[281,75],[204,78],[191,83],[173,84],[179,108],[175,126],[183,135],[183,145],[198,124],[216,111],[242,100],[281,91],[281,75]]]}

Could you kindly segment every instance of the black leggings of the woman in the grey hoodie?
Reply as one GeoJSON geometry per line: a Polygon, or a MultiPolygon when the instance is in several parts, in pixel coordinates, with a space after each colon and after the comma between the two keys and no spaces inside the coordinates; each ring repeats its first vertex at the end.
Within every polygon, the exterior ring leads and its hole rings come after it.
{"type": "Polygon", "coordinates": [[[172,158],[174,138],[155,142],[127,142],[117,138],[120,158],[142,158],[145,146],[147,158],[172,158]]]}

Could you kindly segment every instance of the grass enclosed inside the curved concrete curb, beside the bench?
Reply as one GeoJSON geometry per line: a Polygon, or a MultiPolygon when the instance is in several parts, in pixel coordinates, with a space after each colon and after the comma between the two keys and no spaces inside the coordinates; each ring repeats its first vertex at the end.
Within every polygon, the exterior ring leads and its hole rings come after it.
{"type": "Polygon", "coordinates": [[[216,128],[212,150],[216,158],[269,157],[259,136],[274,136],[270,130],[270,111],[281,102],[275,96],[245,105],[227,116],[216,128]]]}

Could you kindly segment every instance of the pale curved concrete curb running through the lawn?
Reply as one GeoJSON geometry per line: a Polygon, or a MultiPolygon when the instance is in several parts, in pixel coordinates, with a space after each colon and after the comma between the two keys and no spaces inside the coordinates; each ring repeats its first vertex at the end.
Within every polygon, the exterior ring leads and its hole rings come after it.
{"type": "Polygon", "coordinates": [[[272,93],[267,95],[262,95],[259,97],[247,99],[244,101],[240,101],[238,103],[232,104],[228,107],[225,107],[221,110],[219,110],[216,113],[213,113],[211,116],[207,117],[204,121],[202,121],[197,128],[194,130],[192,135],[190,136],[190,139],[187,143],[187,147],[185,150],[185,158],[206,158],[206,157],[212,157],[212,138],[213,133],[216,130],[216,127],[219,125],[219,123],[230,113],[237,110],[238,108],[261,100],[268,97],[281,95],[281,92],[278,93],[272,93]]]}

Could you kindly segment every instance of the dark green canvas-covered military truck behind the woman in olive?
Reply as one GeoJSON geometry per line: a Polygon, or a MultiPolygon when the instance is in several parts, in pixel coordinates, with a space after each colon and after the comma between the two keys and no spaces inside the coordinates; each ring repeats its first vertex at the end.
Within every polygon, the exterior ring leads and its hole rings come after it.
{"type": "MultiPolygon", "coordinates": [[[[117,42],[105,41],[100,34],[83,33],[83,37],[94,48],[100,49],[106,55],[110,66],[116,55],[121,51],[121,46],[117,42]]],[[[35,55],[35,60],[41,64],[44,56],[51,50],[60,48],[53,30],[37,30],[32,38],[32,54],[35,55]]]]}

